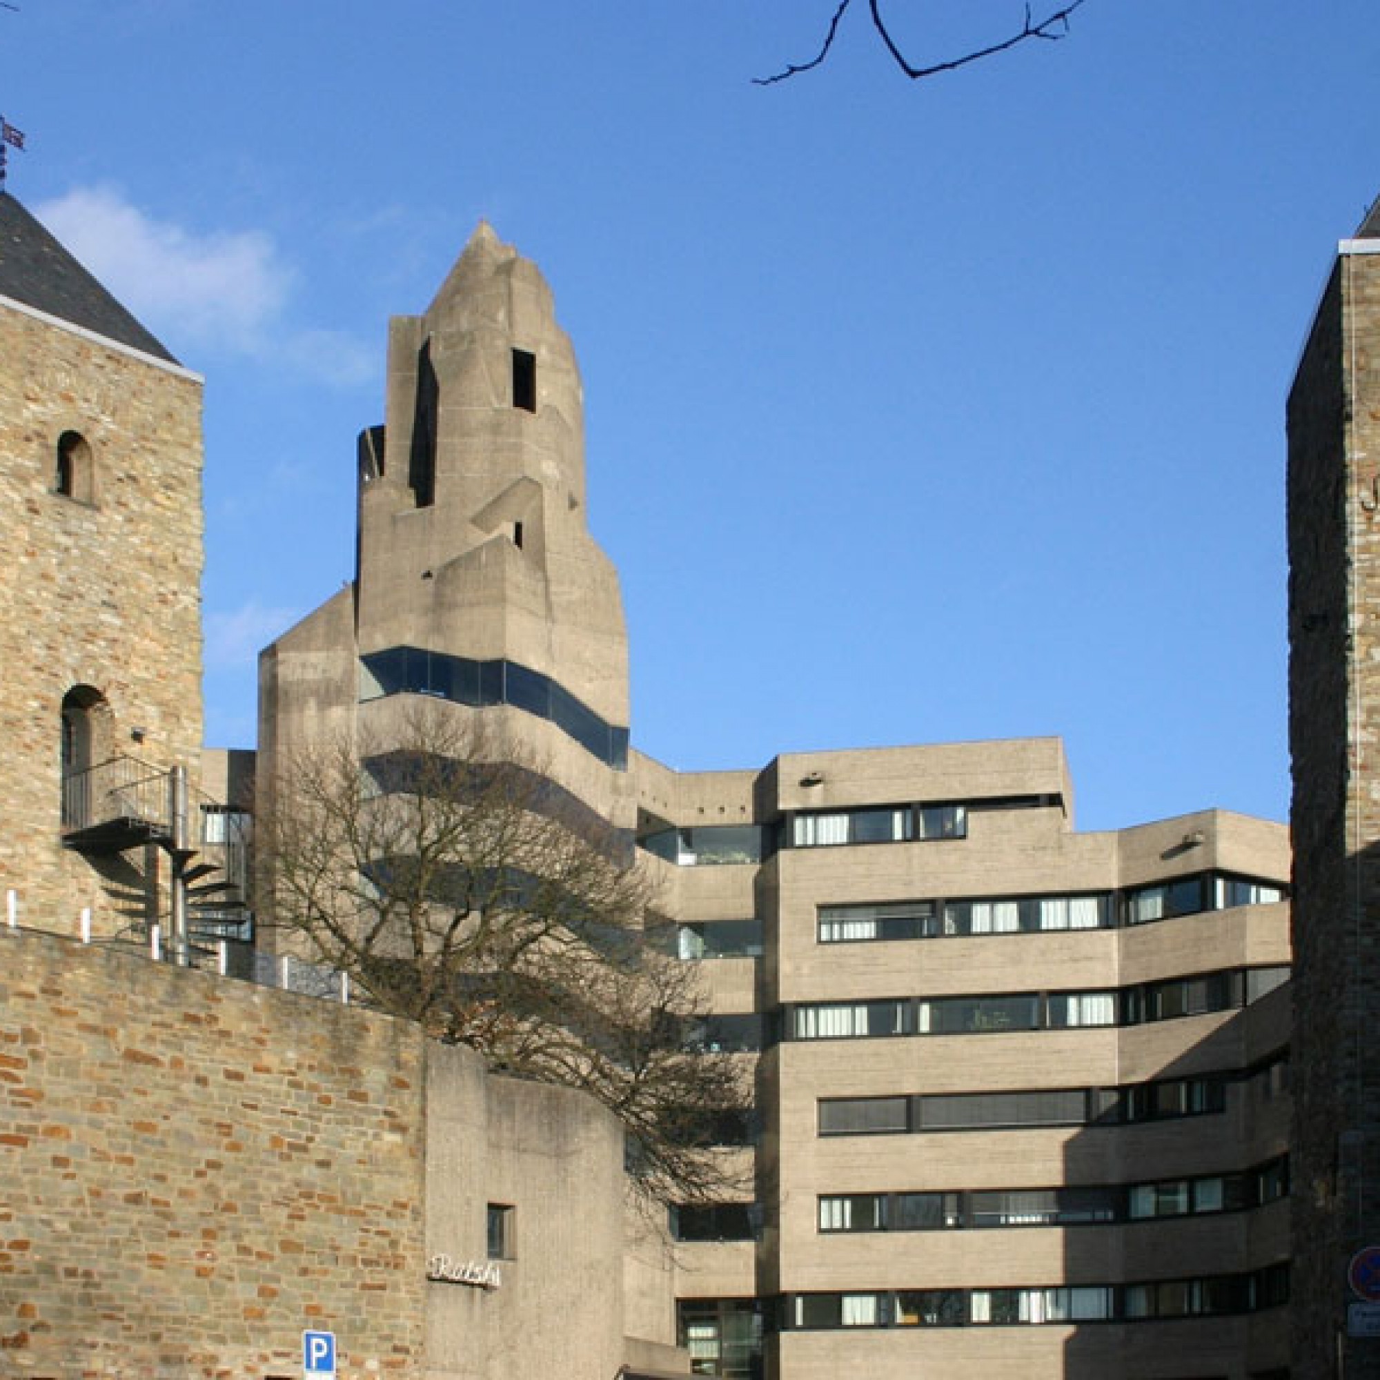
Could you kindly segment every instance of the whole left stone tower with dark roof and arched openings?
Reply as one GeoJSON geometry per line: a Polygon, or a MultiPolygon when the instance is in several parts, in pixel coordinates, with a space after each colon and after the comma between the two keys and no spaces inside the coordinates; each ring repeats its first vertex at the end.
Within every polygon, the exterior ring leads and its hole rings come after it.
{"type": "Polygon", "coordinates": [[[8,195],[0,360],[0,886],[119,933],[201,742],[201,381],[8,195]]]}

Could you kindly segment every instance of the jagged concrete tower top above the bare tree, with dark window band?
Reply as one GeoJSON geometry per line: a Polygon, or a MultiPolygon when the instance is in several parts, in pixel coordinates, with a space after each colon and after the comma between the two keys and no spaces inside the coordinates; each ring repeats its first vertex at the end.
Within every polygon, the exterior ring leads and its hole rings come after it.
{"type": "Polygon", "coordinates": [[[580,374],[537,266],[487,225],[391,324],[355,581],[261,657],[259,811],[280,755],[327,734],[386,749],[420,705],[482,724],[566,818],[631,847],[627,633],[586,527],[580,374]]]}

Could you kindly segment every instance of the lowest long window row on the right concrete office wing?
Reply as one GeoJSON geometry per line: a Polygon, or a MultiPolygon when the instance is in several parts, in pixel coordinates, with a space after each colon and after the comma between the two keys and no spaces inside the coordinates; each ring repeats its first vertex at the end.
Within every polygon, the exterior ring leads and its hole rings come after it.
{"type": "Polygon", "coordinates": [[[1250,1274],[1127,1285],[793,1294],[784,1317],[792,1329],[1018,1326],[1213,1318],[1288,1301],[1289,1267],[1281,1263],[1250,1274]]]}

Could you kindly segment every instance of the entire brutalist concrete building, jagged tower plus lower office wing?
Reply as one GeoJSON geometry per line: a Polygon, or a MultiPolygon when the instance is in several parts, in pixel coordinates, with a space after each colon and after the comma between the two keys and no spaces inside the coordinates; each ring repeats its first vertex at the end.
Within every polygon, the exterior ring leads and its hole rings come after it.
{"type": "Polygon", "coordinates": [[[656,874],[751,1115],[671,1212],[701,1374],[1288,1373],[1289,845],[1214,810],[1074,827],[1057,738],[678,773],[629,747],[574,353],[484,226],[389,334],[355,582],[261,660],[259,791],[425,701],[656,874]]]}

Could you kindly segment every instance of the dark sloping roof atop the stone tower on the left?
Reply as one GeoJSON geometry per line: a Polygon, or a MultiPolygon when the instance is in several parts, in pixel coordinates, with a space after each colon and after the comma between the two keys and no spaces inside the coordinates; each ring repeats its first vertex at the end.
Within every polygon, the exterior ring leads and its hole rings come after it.
{"type": "Polygon", "coordinates": [[[0,297],[177,363],[8,192],[0,192],[0,297]]]}

